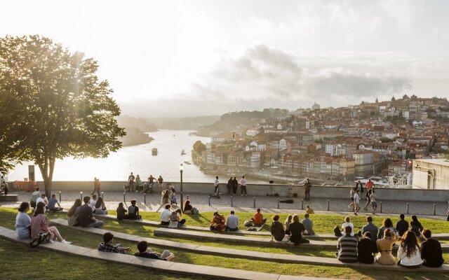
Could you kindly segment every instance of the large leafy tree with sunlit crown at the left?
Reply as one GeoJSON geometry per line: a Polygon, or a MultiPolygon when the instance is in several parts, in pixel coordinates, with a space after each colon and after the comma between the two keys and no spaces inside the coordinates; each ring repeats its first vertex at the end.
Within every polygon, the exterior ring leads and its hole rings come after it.
{"type": "Polygon", "coordinates": [[[41,36],[0,38],[0,139],[6,160],[32,160],[51,194],[55,160],[105,158],[121,148],[119,106],[98,64],[41,36]],[[3,142],[2,142],[3,144],[3,142]]]}

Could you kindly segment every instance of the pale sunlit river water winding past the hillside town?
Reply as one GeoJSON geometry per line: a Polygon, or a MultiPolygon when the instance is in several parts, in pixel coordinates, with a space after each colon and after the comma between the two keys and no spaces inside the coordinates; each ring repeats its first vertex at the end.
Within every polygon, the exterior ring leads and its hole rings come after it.
{"type": "MultiPolygon", "coordinates": [[[[107,158],[65,158],[57,160],[53,181],[91,181],[97,177],[100,181],[126,181],[130,172],[140,175],[145,181],[149,175],[162,176],[164,181],[180,181],[179,166],[181,162],[192,163],[192,146],[195,141],[209,143],[210,137],[190,135],[192,130],[159,130],[149,135],[154,138],[149,144],[121,148],[111,153],[107,158]],[[152,155],[152,148],[158,149],[158,155],[152,155]],[[185,150],[186,155],[181,155],[185,150]]],[[[28,165],[24,162],[15,166],[8,174],[9,181],[23,180],[28,177],[28,165]]],[[[199,167],[184,163],[183,180],[186,182],[213,182],[215,175],[203,174],[199,167]]],[[[39,167],[36,169],[36,181],[43,181],[39,167]]],[[[227,177],[227,176],[226,176],[227,177]]],[[[220,176],[220,182],[225,183],[227,178],[220,176]]],[[[264,181],[263,181],[264,182],[264,181]]],[[[251,183],[262,183],[260,180],[251,180],[251,183]]]]}

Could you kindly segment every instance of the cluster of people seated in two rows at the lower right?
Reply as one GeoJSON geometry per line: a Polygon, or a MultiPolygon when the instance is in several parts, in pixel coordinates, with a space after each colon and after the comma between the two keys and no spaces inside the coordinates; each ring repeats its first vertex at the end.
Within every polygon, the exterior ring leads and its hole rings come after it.
{"type": "Polygon", "coordinates": [[[385,218],[378,231],[377,226],[373,224],[373,217],[368,216],[367,224],[360,232],[361,237],[356,237],[354,225],[350,218],[346,217],[342,225],[344,235],[338,239],[335,256],[342,262],[395,265],[392,250],[396,241],[401,241],[397,253],[398,265],[408,268],[420,265],[441,267],[444,262],[441,244],[431,238],[431,230],[424,229],[416,216],[412,216],[410,227],[403,214],[399,218],[396,228],[390,218],[385,218]],[[421,235],[425,241],[420,245],[418,237],[421,235]]]}

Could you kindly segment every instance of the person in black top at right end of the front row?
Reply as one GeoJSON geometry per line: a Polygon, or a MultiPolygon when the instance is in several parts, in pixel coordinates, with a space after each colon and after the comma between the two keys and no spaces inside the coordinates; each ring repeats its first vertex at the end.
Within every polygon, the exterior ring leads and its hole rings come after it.
{"type": "Polygon", "coordinates": [[[432,232],[427,230],[427,228],[422,230],[422,236],[425,239],[421,244],[422,265],[427,267],[441,267],[444,260],[440,242],[431,238],[432,232]]]}

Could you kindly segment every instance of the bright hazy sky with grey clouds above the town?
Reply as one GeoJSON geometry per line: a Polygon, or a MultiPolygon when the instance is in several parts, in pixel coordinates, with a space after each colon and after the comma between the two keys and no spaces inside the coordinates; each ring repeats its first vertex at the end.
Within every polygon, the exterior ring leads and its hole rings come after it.
{"type": "Polygon", "coordinates": [[[449,97],[449,1],[6,1],[0,36],[98,61],[122,112],[202,116],[449,97]]]}

